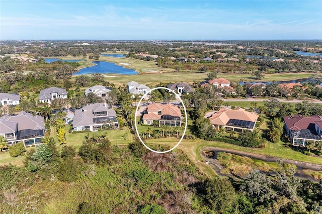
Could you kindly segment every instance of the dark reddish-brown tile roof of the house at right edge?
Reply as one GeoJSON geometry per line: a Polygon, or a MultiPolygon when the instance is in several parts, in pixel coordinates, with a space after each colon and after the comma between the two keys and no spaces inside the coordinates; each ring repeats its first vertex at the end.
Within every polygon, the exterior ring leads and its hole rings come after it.
{"type": "Polygon", "coordinates": [[[315,129],[315,123],[322,122],[322,117],[313,115],[309,117],[303,117],[301,115],[294,115],[293,117],[285,116],[283,120],[289,130],[299,131],[302,129],[315,129]]]}

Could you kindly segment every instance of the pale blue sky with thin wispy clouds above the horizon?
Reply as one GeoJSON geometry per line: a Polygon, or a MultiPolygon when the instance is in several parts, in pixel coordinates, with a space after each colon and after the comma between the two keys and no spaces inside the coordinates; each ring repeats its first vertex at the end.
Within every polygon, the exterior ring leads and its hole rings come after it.
{"type": "Polygon", "coordinates": [[[0,0],[0,39],[322,39],[322,1],[0,0]]]}

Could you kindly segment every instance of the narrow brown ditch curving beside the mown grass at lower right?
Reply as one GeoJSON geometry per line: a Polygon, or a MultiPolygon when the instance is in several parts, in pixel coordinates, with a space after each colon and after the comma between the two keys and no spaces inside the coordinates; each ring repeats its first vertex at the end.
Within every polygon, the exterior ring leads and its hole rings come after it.
{"type": "MultiPolygon", "coordinates": [[[[200,151],[200,154],[204,158],[205,158],[205,156],[202,153],[204,150],[214,150],[214,151],[217,151],[217,152],[228,152],[228,153],[235,154],[235,155],[241,155],[241,156],[246,156],[246,157],[250,157],[250,158],[260,159],[260,160],[263,160],[263,161],[266,161],[266,162],[276,162],[279,159],[281,159],[281,158],[272,157],[272,156],[268,156],[268,155],[260,155],[260,154],[250,153],[250,152],[241,152],[241,151],[238,151],[238,150],[223,149],[223,148],[217,148],[217,147],[205,147],[205,148],[203,148],[200,151]]],[[[295,160],[289,160],[289,159],[282,159],[282,160],[283,160],[283,163],[294,164],[297,167],[301,167],[301,168],[304,168],[304,169],[322,171],[322,165],[319,165],[319,164],[307,163],[307,162],[295,161],[295,160]]]]}

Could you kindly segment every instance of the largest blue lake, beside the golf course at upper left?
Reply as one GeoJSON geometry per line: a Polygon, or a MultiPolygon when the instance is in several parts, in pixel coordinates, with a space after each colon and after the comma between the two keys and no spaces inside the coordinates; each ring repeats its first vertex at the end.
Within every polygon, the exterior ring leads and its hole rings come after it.
{"type": "Polygon", "coordinates": [[[75,73],[75,75],[82,75],[88,73],[115,73],[128,75],[138,74],[133,69],[124,68],[123,66],[116,65],[112,62],[94,61],[92,63],[96,65],[92,67],[82,68],[81,70],[79,70],[79,72],[75,73]]]}

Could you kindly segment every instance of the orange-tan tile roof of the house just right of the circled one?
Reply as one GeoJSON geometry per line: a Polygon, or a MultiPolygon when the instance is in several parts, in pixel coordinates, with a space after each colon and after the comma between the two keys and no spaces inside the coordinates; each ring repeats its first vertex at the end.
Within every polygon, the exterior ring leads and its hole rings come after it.
{"type": "Polygon", "coordinates": [[[220,109],[209,117],[210,124],[224,126],[230,119],[256,122],[258,115],[245,109],[220,109]]]}

